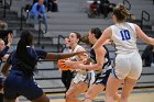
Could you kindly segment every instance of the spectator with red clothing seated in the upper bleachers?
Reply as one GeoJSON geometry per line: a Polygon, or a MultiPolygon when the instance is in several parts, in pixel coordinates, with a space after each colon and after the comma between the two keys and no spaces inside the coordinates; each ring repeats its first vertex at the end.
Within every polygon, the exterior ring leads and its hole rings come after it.
{"type": "Polygon", "coordinates": [[[98,8],[99,8],[99,4],[97,0],[94,0],[94,2],[89,5],[89,16],[98,15],[98,8]]]}

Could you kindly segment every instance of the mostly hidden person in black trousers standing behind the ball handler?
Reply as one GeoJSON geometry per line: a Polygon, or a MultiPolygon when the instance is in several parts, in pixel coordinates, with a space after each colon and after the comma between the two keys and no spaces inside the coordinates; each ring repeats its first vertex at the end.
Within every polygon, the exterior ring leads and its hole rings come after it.
{"type": "MultiPolygon", "coordinates": [[[[70,48],[69,48],[68,38],[65,38],[65,44],[66,44],[66,46],[64,47],[63,53],[69,53],[70,48]]],[[[72,78],[73,78],[73,71],[70,71],[70,70],[63,70],[62,71],[62,82],[64,83],[66,91],[69,89],[72,78]]]]}

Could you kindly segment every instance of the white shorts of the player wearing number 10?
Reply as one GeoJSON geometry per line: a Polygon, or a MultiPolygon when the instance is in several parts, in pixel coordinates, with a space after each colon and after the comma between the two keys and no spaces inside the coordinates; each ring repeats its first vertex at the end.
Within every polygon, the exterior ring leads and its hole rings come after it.
{"type": "Polygon", "coordinates": [[[112,75],[118,79],[131,78],[138,80],[142,72],[142,59],[138,52],[119,54],[116,57],[112,75]]]}

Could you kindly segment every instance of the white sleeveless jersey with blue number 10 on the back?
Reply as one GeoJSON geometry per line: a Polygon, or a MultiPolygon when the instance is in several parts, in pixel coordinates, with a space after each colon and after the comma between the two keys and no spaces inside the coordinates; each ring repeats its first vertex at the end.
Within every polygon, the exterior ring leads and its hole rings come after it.
{"type": "Polygon", "coordinates": [[[110,27],[112,30],[111,39],[116,45],[117,54],[138,52],[134,24],[125,22],[111,25],[110,27]]]}

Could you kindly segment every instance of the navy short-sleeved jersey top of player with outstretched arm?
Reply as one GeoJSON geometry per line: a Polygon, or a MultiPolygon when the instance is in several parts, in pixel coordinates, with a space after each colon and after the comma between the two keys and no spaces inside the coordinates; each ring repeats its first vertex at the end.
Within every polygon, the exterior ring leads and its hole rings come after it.
{"type": "MultiPolygon", "coordinates": [[[[36,65],[40,58],[44,59],[47,54],[44,50],[35,50],[32,47],[28,47],[28,53],[32,57],[32,59],[30,60],[32,60],[33,65],[36,65]]],[[[30,66],[25,64],[24,61],[21,61],[20,59],[18,59],[15,57],[15,50],[10,54],[10,57],[8,58],[7,61],[8,64],[12,65],[12,68],[11,68],[12,70],[21,70],[26,76],[32,76],[35,70],[35,66],[30,66]]]]}

